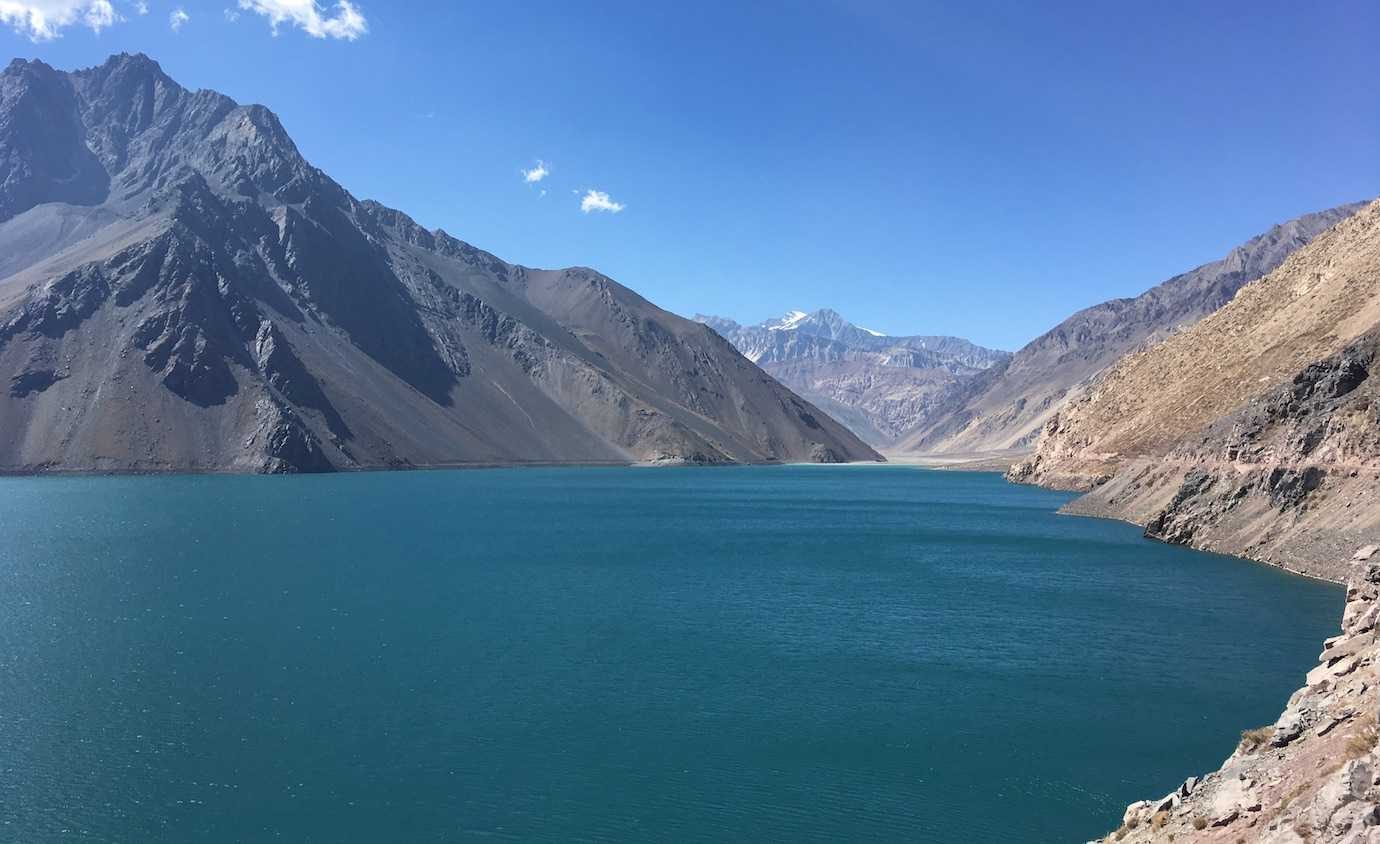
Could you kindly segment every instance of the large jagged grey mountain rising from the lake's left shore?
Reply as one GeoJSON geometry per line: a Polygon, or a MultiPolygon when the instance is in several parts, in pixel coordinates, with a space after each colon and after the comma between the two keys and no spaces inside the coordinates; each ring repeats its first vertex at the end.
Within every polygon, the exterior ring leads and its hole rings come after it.
{"type": "Polygon", "coordinates": [[[878,455],[705,325],[360,201],[144,55],[0,73],[0,470],[878,455]]]}

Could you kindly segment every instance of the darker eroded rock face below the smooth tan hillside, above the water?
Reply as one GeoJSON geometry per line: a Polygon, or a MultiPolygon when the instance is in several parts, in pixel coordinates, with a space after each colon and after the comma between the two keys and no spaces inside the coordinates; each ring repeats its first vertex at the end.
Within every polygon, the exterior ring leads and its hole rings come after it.
{"type": "MultiPolygon", "coordinates": [[[[1372,331],[1167,454],[1122,461],[1067,510],[1137,521],[1166,542],[1350,578],[1348,549],[1380,534],[1380,425],[1370,412],[1377,354],[1380,331],[1372,331]]],[[[1079,459],[1104,465],[1061,436],[1038,456],[1065,469],[1079,459]]],[[[1039,461],[1012,477],[1058,479],[1039,461]]]]}

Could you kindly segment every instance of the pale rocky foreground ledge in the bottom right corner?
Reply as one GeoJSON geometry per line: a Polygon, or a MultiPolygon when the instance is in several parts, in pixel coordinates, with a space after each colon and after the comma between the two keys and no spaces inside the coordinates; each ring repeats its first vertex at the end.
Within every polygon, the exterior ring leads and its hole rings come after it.
{"type": "Polygon", "coordinates": [[[1352,565],[1341,634],[1279,720],[1245,731],[1217,771],[1126,807],[1104,841],[1380,844],[1380,546],[1352,565]]]}

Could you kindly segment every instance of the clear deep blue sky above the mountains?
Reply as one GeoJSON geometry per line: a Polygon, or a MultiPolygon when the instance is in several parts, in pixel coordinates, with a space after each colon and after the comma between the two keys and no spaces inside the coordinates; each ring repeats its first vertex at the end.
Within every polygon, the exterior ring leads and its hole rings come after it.
{"type": "Polygon", "coordinates": [[[683,314],[1014,349],[1380,194],[1373,1],[6,7],[46,15],[11,12],[10,57],[148,52],[359,197],[683,314]]]}

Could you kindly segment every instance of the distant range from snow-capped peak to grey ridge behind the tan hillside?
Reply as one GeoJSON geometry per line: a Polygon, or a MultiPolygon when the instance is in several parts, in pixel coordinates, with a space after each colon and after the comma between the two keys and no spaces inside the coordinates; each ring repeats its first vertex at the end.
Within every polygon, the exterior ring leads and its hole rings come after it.
{"type": "Polygon", "coordinates": [[[1138,297],[1079,310],[1014,354],[952,336],[887,336],[827,309],[791,310],[756,325],[694,319],[889,454],[1018,458],[1100,372],[1216,312],[1363,207],[1272,226],[1138,297]]]}

